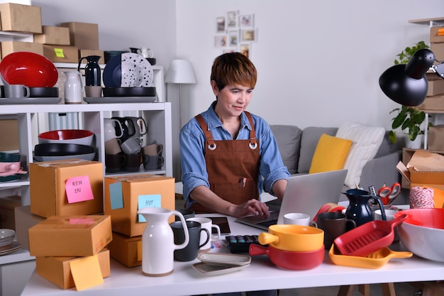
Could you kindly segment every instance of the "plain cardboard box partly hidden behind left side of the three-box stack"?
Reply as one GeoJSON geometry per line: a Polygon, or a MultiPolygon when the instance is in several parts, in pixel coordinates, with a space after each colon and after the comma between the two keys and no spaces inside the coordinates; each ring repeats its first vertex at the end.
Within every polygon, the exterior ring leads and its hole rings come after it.
{"type": "Polygon", "coordinates": [[[39,224],[41,221],[45,221],[42,216],[37,216],[30,212],[30,206],[16,207],[16,239],[23,248],[29,250],[29,238],[28,229],[32,226],[39,224]]]}

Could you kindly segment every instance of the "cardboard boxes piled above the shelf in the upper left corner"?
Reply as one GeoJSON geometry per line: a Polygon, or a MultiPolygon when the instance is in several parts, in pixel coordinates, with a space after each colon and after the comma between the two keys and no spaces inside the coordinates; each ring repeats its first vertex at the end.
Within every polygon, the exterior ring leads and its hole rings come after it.
{"type": "Polygon", "coordinates": [[[52,62],[79,62],[79,57],[99,55],[104,63],[104,52],[99,50],[99,26],[96,23],[67,22],[60,26],[42,26],[38,6],[0,4],[0,31],[33,34],[33,42],[4,41],[1,57],[18,51],[28,51],[48,57],[52,62]]]}

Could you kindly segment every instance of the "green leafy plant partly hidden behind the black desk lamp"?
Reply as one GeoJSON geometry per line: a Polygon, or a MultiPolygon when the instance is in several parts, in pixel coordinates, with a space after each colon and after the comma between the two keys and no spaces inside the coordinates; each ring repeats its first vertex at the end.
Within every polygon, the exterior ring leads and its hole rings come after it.
{"type": "MultiPolygon", "coordinates": [[[[424,41],[419,41],[412,47],[407,46],[401,53],[396,55],[397,58],[394,60],[394,64],[406,64],[414,53],[422,48],[428,48],[428,45],[426,45],[424,41]]],[[[424,131],[421,130],[421,124],[426,119],[426,114],[423,111],[416,107],[401,105],[401,107],[390,111],[389,114],[396,111],[398,113],[392,119],[392,131],[389,132],[389,138],[392,143],[396,143],[396,131],[394,131],[396,128],[401,128],[403,131],[408,130],[410,141],[415,141],[418,135],[424,133],[424,131]]],[[[429,124],[429,126],[430,125],[431,124],[429,124]]]]}

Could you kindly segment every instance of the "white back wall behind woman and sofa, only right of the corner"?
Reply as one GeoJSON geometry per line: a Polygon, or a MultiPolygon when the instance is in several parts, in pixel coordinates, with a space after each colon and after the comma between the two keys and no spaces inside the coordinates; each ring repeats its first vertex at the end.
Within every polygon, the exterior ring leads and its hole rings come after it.
{"type": "Polygon", "coordinates": [[[389,128],[397,104],[379,89],[379,75],[406,46],[428,41],[428,26],[408,21],[442,16],[444,2],[177,1],[177,55],[192,62],[197,80],[188,86],[188,118],[213,100],[211,63],[221,54],[213,45],[216,17],[235,10],[255,13],[259,29],[250,55],[259,72],[250,111],[301,128],[345,119],[389,128]]]}

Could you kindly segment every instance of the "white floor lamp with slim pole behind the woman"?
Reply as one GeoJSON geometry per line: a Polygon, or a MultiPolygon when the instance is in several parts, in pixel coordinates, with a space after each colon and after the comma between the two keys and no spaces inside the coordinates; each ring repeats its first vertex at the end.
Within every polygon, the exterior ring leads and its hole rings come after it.
{"type": "Polygon", "coordinates": [[[187,60],[172,60],[165,77],[166,83],[179,84],[179,129],[182,128],[181,92],[182,84],[195,84],[192,63],[187,60]]]}

